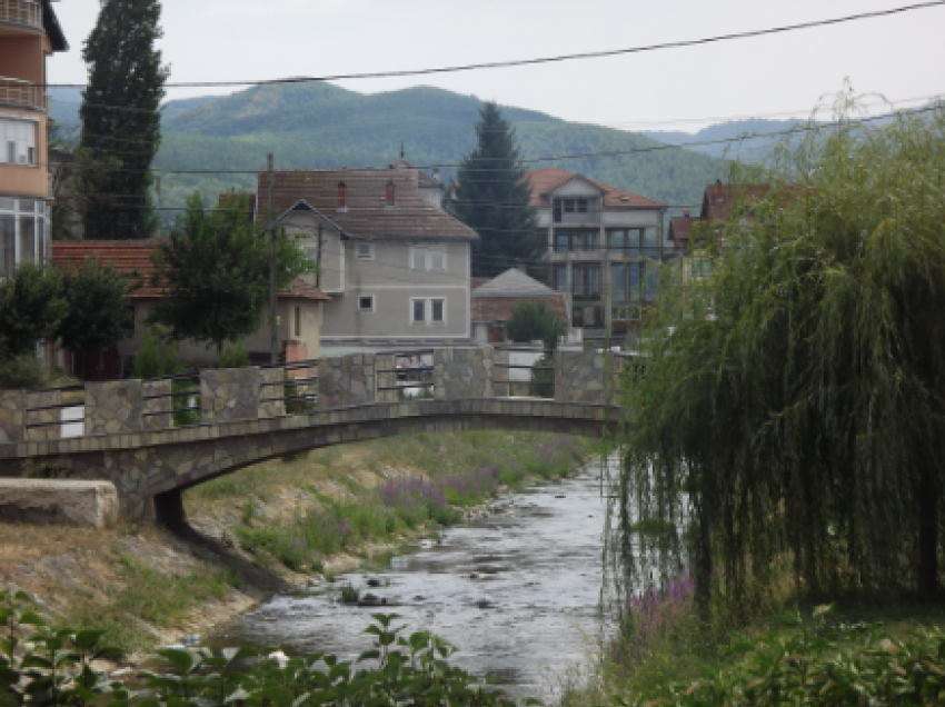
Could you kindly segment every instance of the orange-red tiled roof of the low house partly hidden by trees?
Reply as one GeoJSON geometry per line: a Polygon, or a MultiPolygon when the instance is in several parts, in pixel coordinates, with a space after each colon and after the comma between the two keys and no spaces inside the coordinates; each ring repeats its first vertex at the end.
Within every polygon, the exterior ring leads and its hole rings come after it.
{"type": "MultiPolygon", "coordinates": [[[[81,240],[81,241],[53,241],[52,263],[59,269],[81,266],[88,258],[98,258],[100,262],[111,265],[122,275],[140,279],[142,282],[150,280],[155,273],[155,263],[151,256],[157,252],[160,241],[112,241],[112,240],[81,240]]],[[[131,292],[131,299],[159,299],[165,296],[163,288],[141,287],[131,292]]],[[[296,278],[289,286],[279,292],[279,297],[287,299],[308,299],[312,301],[328,301],[331,298],[317,287],[314,287],[296,278]]]]}

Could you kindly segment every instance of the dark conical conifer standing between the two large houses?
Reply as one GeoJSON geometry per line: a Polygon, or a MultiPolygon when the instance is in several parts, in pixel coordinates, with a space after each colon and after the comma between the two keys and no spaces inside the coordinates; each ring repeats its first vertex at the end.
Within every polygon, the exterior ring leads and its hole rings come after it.
{"type": "Polygon", "coordinates": [[[525,178],[515,128],[495,103],[486,103],[479,116],[479,147],[462,160],[449,206],[481,238],[472,275],[490,277],[540,260],[546,243],[529,206],[531,186],[525,178]]]}

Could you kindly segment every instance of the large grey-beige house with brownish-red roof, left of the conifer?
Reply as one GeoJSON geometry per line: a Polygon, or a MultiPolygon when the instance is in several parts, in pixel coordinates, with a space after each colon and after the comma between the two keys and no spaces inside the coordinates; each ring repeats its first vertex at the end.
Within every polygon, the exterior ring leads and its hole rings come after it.
{"type": "Polygon", "coordinates": [[[331,296],[322,349],[341,352],[470,341],[470,249],[478,235],[441,208],[438,180],[401,158],[387,169],[258,178],[255,215],[301,238],[331,296]]]}

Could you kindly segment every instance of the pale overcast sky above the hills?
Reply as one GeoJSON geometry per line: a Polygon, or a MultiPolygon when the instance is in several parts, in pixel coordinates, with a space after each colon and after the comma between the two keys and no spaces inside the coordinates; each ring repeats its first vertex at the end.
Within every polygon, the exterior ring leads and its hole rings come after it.
{"type": "MultiPolygon", "coordinates": [[[[163,0],[161,49],[171,81],[324,76],[619,49],[912,1],[163,0]]],[[[56,6],[71,49],[50,60],[51,83],[84,82],[81,48],[98,9],[99,0],[56,6]]],[[[670,121],[806,116],[847,77],[891,100],[945,94],[943,29],[936,7],[705,47],[341,86],[437,86],[573,121],[693,131],[699,122],[670,121]]],[[[221,91],[169,89],[168,98],[210,92],[221,91]]]]}

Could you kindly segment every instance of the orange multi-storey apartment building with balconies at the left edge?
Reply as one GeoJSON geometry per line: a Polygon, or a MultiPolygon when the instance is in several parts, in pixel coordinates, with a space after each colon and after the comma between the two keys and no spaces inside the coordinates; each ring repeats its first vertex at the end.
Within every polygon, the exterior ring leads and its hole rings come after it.
{"type": "Polygon", "coordinates": [[[51,0],[0,0],[0,278],[50,258],[46,60],[67,49],[51,0]]]}

